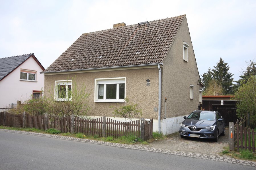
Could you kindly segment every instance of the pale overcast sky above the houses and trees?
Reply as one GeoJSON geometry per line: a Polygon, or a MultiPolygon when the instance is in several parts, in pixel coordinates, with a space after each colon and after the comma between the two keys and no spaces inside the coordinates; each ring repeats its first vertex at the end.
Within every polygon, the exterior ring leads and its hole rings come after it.
{"type": "Polygon", "coordinates": [[[34,53],[44,68],[82,33],[186,14],[199,74],[220,57],[234,80],[256,61],[255,0],[0,0],[0,58],[34,53]]]}

